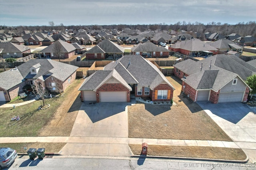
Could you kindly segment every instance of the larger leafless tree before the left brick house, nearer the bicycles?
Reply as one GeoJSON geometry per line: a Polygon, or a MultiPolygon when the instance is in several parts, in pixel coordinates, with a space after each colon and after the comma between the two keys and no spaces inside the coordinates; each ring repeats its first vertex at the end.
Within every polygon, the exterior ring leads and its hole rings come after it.
{"type": "Polygon", "coordinates": [[[36,97],[40,100],[43,101],[43,106],[46,103],[46,97],[49,95],[47,89],[44,87],[43,83],[41,83],[38,80],[33,81],[33,85],[31,86],[32,88],[32,92],[34,93],[34,95],[36,95],[36,97]]]}

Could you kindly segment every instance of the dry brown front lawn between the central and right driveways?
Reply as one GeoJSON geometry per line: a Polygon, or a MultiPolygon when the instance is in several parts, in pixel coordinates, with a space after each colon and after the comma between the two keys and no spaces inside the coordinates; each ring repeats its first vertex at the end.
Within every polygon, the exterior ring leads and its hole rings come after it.
{"type": "Polygon", "coordinates": [[[180,95],[177,81],[171,77],[168,80],[176,88],[177,105],[128,106],[129,138],[232,141],[197,103],[180,95]]]}

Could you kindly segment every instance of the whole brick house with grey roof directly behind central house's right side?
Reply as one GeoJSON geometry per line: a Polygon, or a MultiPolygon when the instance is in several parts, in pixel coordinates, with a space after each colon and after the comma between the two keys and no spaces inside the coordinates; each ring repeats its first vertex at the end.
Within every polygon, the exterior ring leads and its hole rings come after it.
{"type": "Polygon", "coordinates": [[[131,50],[133,55],[141,55],[142,57],[169,57],[170,54],[168,49],[152,42],[139,43],[131,50]]]}

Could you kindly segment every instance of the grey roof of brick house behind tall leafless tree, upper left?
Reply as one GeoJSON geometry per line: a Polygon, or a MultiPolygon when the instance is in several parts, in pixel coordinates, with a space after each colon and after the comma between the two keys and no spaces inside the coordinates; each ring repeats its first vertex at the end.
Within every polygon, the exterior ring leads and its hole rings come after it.
{"type": "Polygon", "coordinates": [[[72,45],[71,43],[67,43],[67,42],[64,42],[62,40],[58,40],[58,41],[54,42],[53,44],[49,45],[48,47],[42,49],[40,51],[40,53],[54,53],[54,44],[55,43],[60,43],[61,44],[62,52],[68,52],[69,53],[71,51],[76,50],[74,45],[72,45]]]}

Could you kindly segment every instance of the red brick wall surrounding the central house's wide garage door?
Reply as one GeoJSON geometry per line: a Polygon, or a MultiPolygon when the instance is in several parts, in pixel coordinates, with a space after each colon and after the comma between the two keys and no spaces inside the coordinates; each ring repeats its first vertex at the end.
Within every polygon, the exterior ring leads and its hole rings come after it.
{"type": "Polygon", "coordinates": [[[126,101],[130,102],[130,90],[127,89],[124,85],[122,85],[121,83],[105,83],[103,84],[99,89],[97,89],[96,94],[98,94],[96,96],[96,100],[97,103],[100,102],[100,91],[126,91],[126,101]],[[128,94],[129,93],[129,94],[128,94]]]}

